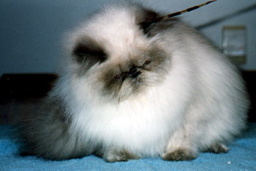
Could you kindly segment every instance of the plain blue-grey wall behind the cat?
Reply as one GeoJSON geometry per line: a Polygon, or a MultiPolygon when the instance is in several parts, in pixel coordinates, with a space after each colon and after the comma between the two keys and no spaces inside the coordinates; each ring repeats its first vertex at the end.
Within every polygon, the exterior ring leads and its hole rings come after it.
{"type": "MultiPolygon", "coordinates": [[[[139,1],[139,0],[137,0],[139,1]]],[[[149,0],[145,2],[166,14],[207,0],[149,0]]],[[[0,1],[0,75],[4,73],[56,73],[64,32],[97,10],[107,1],[96,0],[1,0],[0,1]]],[[[194,27],[219,19],[200,31],[218,47],[223,25],[245,25],[248,29],[245,70],[256,70],[256,9],[235,14],[255,5],[256,0],[219,0],[181,18],[194,27]],[[235,15],[231,15],[235,14],[235,15]],[[225,19],[225,17],[228,17],[225,19]]]]}

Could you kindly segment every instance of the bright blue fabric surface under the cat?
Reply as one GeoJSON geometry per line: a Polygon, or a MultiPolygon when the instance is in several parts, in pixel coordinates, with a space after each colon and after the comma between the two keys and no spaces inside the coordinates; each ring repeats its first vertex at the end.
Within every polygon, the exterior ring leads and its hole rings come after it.
{"type": "Polygon", "coordinates": [[[200,153],[190,162],[168,162],[160,158],[106,163],[95,156],[65,161],[49,161],[34,156],[18,156],[19,143],[11,126],[0,126],[0,170],[256,170],[256,123],[240,139],[229,145],[226,154],[200,153]]]}

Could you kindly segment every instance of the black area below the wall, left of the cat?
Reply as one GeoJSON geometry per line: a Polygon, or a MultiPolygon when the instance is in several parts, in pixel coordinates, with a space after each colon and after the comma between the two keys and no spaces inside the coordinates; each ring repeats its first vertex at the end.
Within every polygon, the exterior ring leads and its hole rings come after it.
{"type": "Polygon", "coordinates": [[[55,74],[4,74],[0,78],[0,124],[16,124],[38,113],[55,74]]]}

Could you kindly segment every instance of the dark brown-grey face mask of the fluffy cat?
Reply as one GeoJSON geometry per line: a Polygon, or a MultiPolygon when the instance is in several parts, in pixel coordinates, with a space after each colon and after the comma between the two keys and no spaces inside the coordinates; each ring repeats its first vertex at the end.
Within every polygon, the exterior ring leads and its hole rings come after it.
{"type": "Polygon", "coordinates": [[[126,65],[111,64],[111,67],[106,67],[106,71],[99,78],[99,81],[104,83],[104,96],[114,99],[117,98],[120,101],[129,97],[131,94],[136,94],[138,91],[143,90],[145,85],[152,84],[152,82],[153,84],[161,82],[162,78],[155,78],[156,80],[152,81],[152,78],[144,77],[144,75],[146,72],[163,73],[164,75],[167,69],[165,68],[165,61],[167,60],[165,52],[154,47],[152,50],[146,52],[146,55],[142,56],[144,58],[138,58],[139,61],[135,60],[137,59],[135,58],[127,62],[126,65]],[[126,94],[121,94],[121,88],[125,84],[132,85],[129,86],[132,88],[129,90],[126,89],[126,94]]]}

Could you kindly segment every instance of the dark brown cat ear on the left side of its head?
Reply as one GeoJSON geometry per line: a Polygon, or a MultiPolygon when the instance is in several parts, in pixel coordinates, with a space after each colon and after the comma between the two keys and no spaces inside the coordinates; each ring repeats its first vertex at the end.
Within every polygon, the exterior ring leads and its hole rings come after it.
{"type": "Polygon", "coordinates": [[[72,54],[78,63],[87,63],[89,66],[103,63],[107,59],[104,49],[88,38],[83,38],[82,41],[77,42],[72,54]]]}

